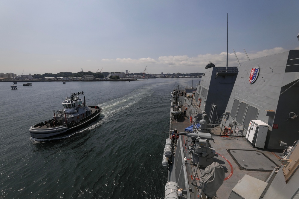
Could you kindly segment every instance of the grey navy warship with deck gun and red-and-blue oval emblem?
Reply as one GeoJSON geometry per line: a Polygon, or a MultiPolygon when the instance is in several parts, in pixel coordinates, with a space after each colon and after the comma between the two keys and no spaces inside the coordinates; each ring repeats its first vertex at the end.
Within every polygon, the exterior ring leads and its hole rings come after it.
{"type": "Polygon", "coordinates": [[[288,50],[209,63],[196,89],[175,89],[185,115],[170,111],[164,132],[164,198],[298,198],[298,82],[299,50],[288,50]]]}

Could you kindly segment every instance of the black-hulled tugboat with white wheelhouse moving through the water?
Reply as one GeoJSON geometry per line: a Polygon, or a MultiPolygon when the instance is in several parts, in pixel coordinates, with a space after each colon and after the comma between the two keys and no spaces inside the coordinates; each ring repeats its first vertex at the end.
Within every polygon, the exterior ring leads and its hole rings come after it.
{"type": "Polygon", "coordinates": [[[40,122],[30,127],[32,138],[52,138],[60,136],[76,129],[80,129],[95,121],[101,114],[99,106],[86,106],[85,96],[79,95],[83,92],[73,93],[66,97],[61,104],[64,109],[54,112],[53,119],[40,122]]]}

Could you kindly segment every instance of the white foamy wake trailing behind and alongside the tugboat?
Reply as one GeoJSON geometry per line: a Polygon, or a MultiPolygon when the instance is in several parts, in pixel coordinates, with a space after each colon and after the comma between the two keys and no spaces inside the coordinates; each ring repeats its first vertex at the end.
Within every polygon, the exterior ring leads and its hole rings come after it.
{"type": "Polygon", "coordinates": [[[153,89],[136,89],[133,90],[131,93],[124,95],[120,98],[113,99],[111,101],[104,102],[103,104],[97,104],[103,108],[103,111],[100,115],[100,119],[91,123],[91,125],[85,129],[81,129],[77,132],[73,132],[68,135],[58,136],[55,138],[48,138],[48,139],[41,139],[41,138],[30,138],[33,141],[54,141],[54,140],[61,140],[64,138],[71,137],[77,133],[85,132],[88,130],[95,129],[100,127],[102,124],[109,122],[111,118],[115,117],[116,115],[120,114],[121,111],[128,109],[132,105],[138,103],[141,99],[151,96],[154,93],[153,89]]]}

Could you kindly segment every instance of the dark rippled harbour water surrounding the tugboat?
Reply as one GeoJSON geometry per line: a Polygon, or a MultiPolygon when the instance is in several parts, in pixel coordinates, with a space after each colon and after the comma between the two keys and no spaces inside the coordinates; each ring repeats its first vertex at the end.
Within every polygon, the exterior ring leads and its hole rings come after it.
{"type": "Polygon", "coordinates": [[[20,82],[17,90],[1,82],[0,198],[164,198],[170,92],[191,81],[20,82]],[[103,108],[100,119],[60,139],[30,137],[30,126],[81,91],[103,108]]]}

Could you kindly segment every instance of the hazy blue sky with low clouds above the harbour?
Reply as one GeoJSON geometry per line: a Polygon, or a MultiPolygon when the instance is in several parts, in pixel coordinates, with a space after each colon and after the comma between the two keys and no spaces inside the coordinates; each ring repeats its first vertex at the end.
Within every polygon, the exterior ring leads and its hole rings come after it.
{"type": "Polygon", "coordinates": [[[205,72],[299,49],[293,0],[1,0],[0,72],[205,72]],[[228,15],[228,23],[227,23],[228,15]],[[228,40],[227,40],[228,26],[228,40]]]}

